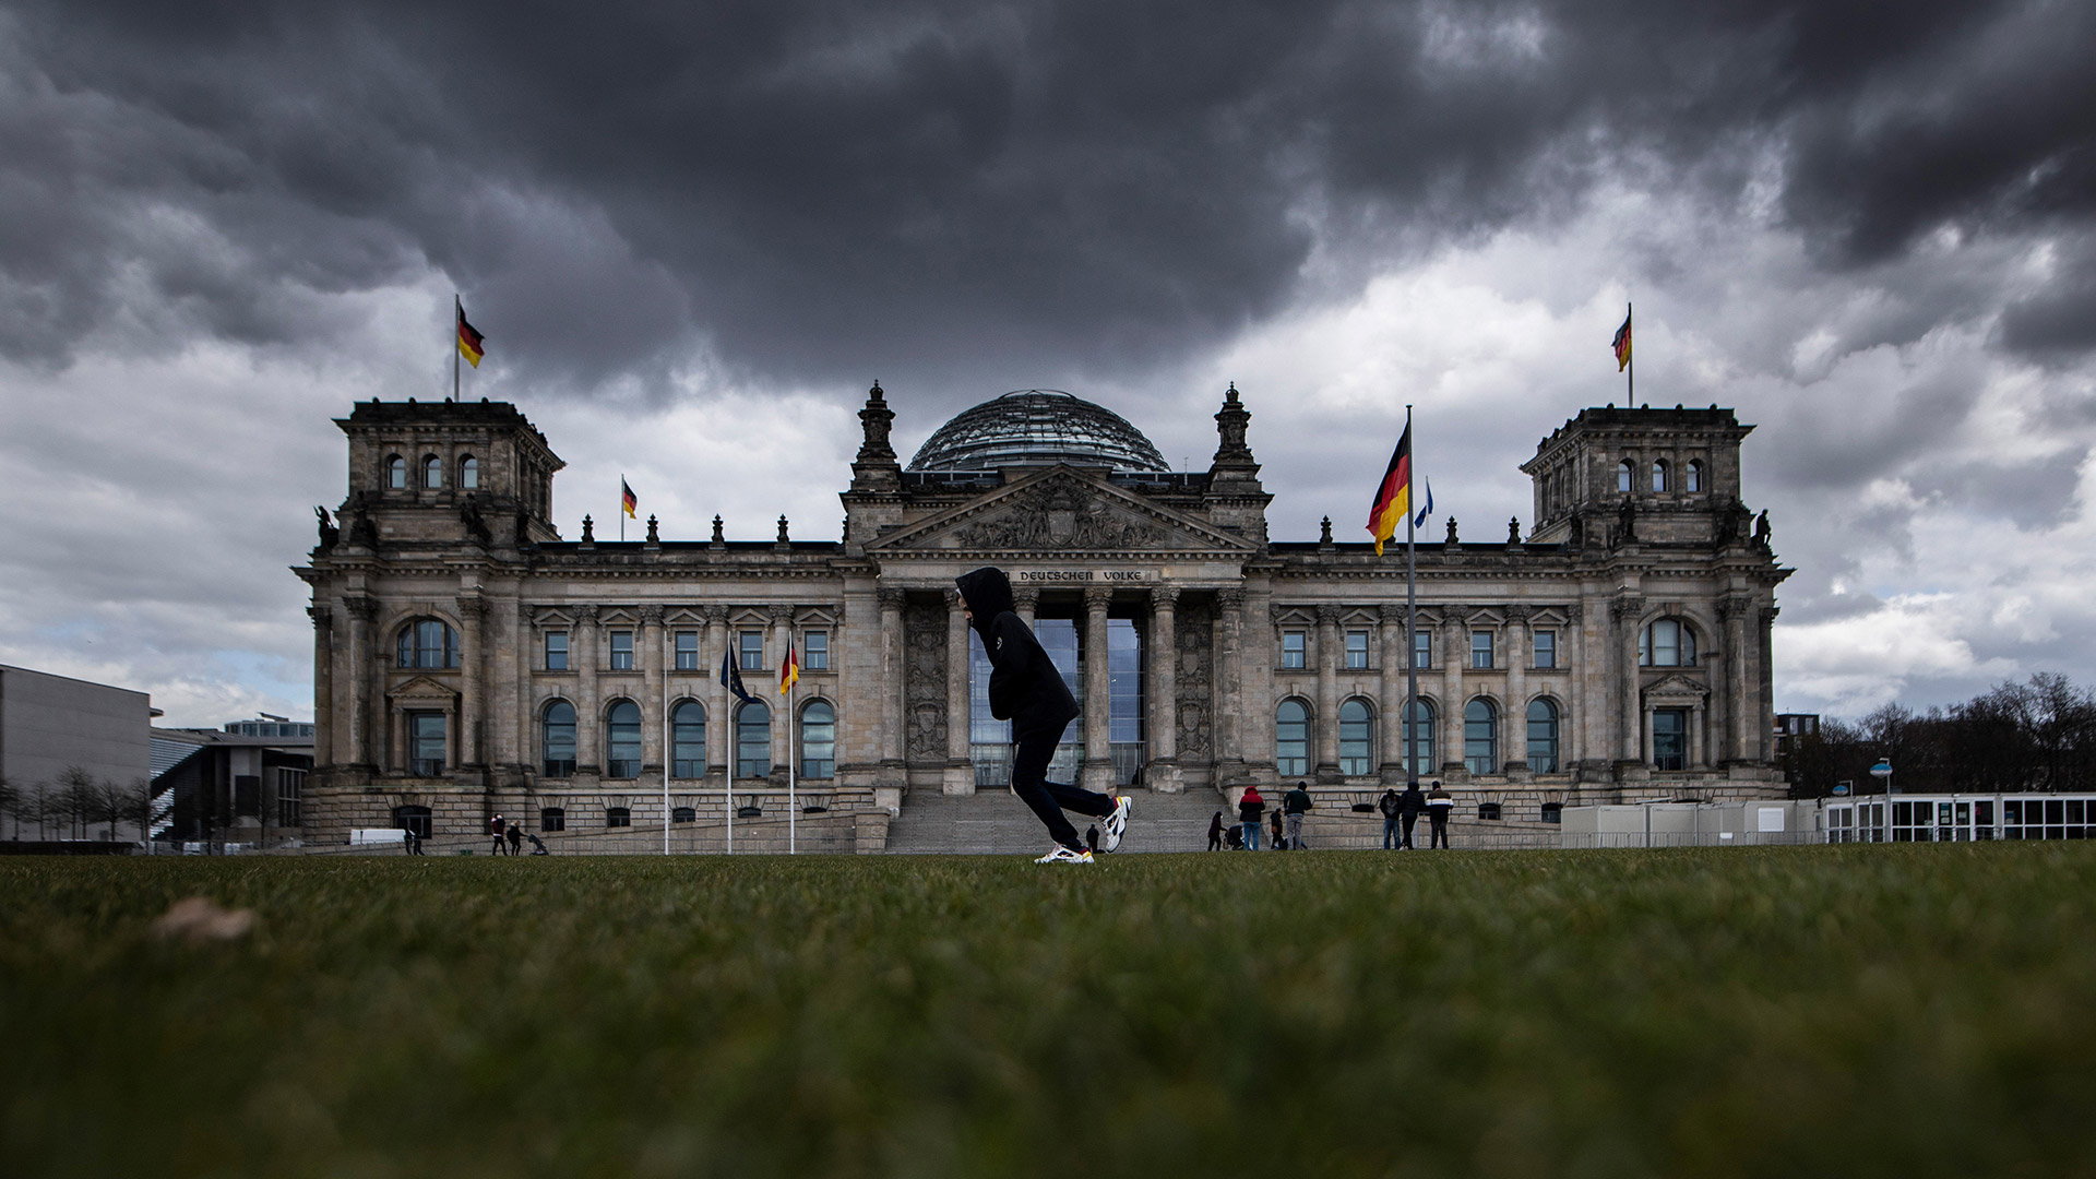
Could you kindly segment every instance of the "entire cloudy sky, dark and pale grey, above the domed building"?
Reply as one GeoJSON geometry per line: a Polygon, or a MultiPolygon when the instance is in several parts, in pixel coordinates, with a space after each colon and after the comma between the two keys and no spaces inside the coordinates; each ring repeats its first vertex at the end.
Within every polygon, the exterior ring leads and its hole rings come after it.
{"type": "MultiPolygon", "coordinates": [[[[2096,680],[2096,4],[0,4],[0,661],[163,724],[312,715],[287,571],[331,417],[451,392],[568,459],[564,535],[838,533],[1067,388],[1276,539],[1360,539],[1406,401],[1465,539],[1637,304],[1796,575],[1775,701],[2096,680]]],[[[1440,524],[1434,527],[1436,535],[1440,524]]]]}

